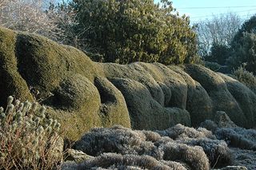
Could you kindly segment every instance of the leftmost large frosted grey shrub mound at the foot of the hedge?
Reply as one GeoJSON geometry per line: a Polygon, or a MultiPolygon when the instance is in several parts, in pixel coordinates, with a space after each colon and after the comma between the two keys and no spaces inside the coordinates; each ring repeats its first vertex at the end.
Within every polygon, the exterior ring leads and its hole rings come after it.
{"type": "Polygon", "coordinates": [[[112,128],[93,128],[76,142],[75,148],[91,156],[116,152],[123,155],[150,155],[160,159],[162,155],[152,142],[146,141],[143,132],[118,125],[112,128]]]}

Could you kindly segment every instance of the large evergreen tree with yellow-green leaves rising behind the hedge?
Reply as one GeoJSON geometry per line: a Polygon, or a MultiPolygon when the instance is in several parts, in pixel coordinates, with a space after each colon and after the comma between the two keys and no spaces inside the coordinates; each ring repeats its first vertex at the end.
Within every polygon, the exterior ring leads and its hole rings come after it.
{"type": "MultiPolygon", "coordinates": [[[[104,61],[189,63],[196,57],[196,36],[189,18],[174,14],[171,2],[153,0],[74,0],[76,34],[104,61]]],[[[94,59],[94,58],[93,58],[94,59]]],[[[95,59],[94,59],[95,60],[95,59]]]]}

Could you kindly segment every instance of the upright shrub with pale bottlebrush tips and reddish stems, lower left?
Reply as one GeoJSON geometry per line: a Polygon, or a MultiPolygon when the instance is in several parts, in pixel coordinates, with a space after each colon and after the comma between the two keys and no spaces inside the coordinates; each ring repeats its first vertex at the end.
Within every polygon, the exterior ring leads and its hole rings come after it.
{"type": "Polygon", "coordinates": [[[48,119],[46,107],[14,101],[0,108],[0,169],[52,169],[62,160],[60,124],[48,119]]]}

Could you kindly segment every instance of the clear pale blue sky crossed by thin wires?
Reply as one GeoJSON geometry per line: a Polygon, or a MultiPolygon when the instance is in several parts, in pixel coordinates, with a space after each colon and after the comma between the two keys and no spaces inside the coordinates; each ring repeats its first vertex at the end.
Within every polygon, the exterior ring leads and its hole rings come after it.
{"type": "MultiPolygon", "coordinates": [[[[159,2],[159,0],[154,0],[159,2]]],[[[179,14],[190,16],[191,23],[211,18],[218,14],[233,12],[242,19],[256,14],[256,0],[173,0],[173,6],[179,14]]]]}

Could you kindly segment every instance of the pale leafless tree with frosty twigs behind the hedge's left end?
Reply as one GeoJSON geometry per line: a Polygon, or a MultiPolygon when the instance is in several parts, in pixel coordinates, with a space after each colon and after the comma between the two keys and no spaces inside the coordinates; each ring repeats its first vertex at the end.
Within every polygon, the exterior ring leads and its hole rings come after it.
{"type": "Polygon", "coordinates": [[[0,0],[0,26],[42,34],[59,40],[63,30],[58,24],[63,21],[66,11],[49,8],[56,0],[0,0]]]}

